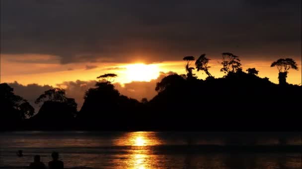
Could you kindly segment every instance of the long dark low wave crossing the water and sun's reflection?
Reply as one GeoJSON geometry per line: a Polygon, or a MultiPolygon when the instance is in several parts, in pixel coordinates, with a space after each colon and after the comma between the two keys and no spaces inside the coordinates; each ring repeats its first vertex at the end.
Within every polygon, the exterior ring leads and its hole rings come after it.
{"type": "MultiPolygon", "coordinates": [[[[18,148],[5,148],[2,152],[14,154],[18,148]]],[[[59,151],[64,154],[128,154],[132,150],[151,150],[153,154],[170,154],[170,153],[227,153],[227,152],[251,152],[251,153],[300,153],[301,145],[157,145],[157,146],[100,146],[100,147],[58,147],[58,148],[22,148],[23,151],[30,153],[44,153],[59,151]]]]}

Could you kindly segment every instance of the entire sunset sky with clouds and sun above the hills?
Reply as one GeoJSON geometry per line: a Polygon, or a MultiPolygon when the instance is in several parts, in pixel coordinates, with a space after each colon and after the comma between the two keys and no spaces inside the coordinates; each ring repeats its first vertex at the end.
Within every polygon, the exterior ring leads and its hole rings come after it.
{"type": "Polygon", "coordinates": [[[255,67],[273,83],[278,70],[270,64],[293,58],[299,71],[290,70],[288,82],[301,84],[301,6],[301,0],[0,0],[0,83],[29,100],[45,87],[64,87],[80,103],[97,76],[116,73],[122,94],[151,99],[162,75],[185,73],[184,56],[206,53],[210,73],[222,77],[221,53],[231,52],[243,70],[255,67]]]}

